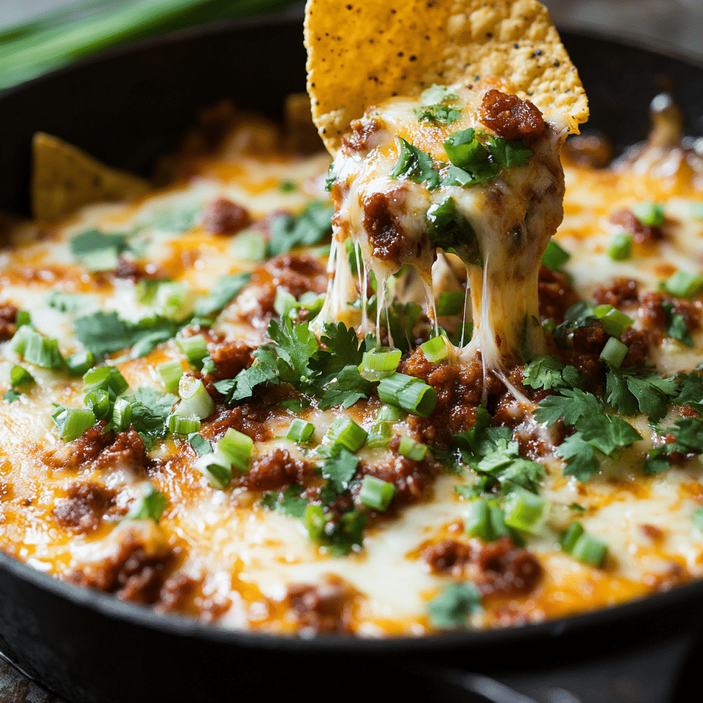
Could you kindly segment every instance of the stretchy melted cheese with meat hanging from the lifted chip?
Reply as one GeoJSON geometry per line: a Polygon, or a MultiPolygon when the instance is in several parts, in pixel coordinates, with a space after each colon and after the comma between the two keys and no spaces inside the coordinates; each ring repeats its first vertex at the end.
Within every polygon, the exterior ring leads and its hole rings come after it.
{"type": "Polygon", "coordinates": [[[524,165],[501,169],[487,182],[463,187],[447,182],[454,167],[443,143],[467,129],[486,141],[491,133],[480,121],[482,101],[489,91],[496,93],[496,83],[446,86],[444,91],[453,96],[451,104],[460,109],[460,117],[451,124],[418,120],[423,112],[421,98],[392,98],[370,108],[353,124],[352,134],[342,141],[333,163],[334,248],[319,330],[324,323],[348,320],[348,304],[358,295],[344,253],[349,244],[360,247],[363,259],[359,290],[365,294],[368,289],[369,273],[378,282],[380,304],[375,321],[366,316],[366,296],[362,295],[359,329],[363,333],[375,329],[380,338],[386,283],[404,266],[414,269],[422,280],[430,316],[436,317],[434,299],[439,290],[433,289],[432,264],[437,247],[430,241],[428,228],[432,212],[451,201],[456,217],[468,223],[470,233],[469,240],[457,241],[453,247],[466,267],[469,322],[474,325],[460,356],[480,355],[484,368],[501,370],[545,352],[537,276],[541,255],[562,220],[564,179],[559,151],[569,132],[565,120],[555,116],[546,121],[541,134],[531,139],[531,155],[524,165]],[[439,183],[394,175],[404,143],[429,155],[439,172],[439,183]]]}

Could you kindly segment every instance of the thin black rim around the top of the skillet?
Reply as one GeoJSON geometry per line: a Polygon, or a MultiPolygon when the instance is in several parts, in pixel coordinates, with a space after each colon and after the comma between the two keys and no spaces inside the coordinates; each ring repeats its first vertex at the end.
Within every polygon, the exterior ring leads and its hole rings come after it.
{"type": "MultiPolygon", "coordinates": [[[[14,86],[0,92],[0,107],[2,99],[25,90],[41,86],[43,82],[51,81],[56,75],[63,75],[75,67],[89,63],[99,63],[106,58],[122,56],[139,49],[172,44],[185,39],[207,36],[210,34],[226,34],[237,29],[254,27],[267,27],[269,25],[283,25],[300,23],[302,14],[299,9],[288,9],[280,13],[259,15],[239,20],[226,22],[213,22],[199,27],[189,27],[176,30],[160,37],[148,37],[130,44],[102,51],[94,56],[83,58],[71,65],[60,67],[46,75],[39,76],[20,86],[14,86]]],[[[683,61],[694,67],[703,69],[703,60],[677,52],[669,46],[657,46],[652,49],[652,42],[647,42],[642,37],[627,34],[625,37],[613,37],[607,32],[600,32],[588,28],[563,27],[562,34],[572,35],[579,39],[596,39],[610,44],[620,45],[645,51],[652,55],[665,56],[683,61]]],[[[496,628],[491,630],[472,631],[461,630],[438,635],[399,638],[347,638],[342,636],[321,635],[314,638],[300,638],[295,636],[281,636],[275,634],[238,631],[227,628],[217,628],[202,624],[193,619],[176,615],[160,614],[152,608],[135,605],[117,600],[111,595],[80,588],[70,583],[58,581],[14,557],[0,551],[0,573],[8,572],[15,578],[28,581],[34,586],[46,589],[53,595],[70,602],[77,607],[87,607],[94,612],[119,621],[133,624],[136,627],[148,627],[160,633],[172,636],[207,640],[216,643],[228,643],[238,647],[247,647],[263,650],[278,650],[286,652],[349,652],[354,654],[373,654],[375,652],[423,652],[427,650],[452,650],[456,647],[493,647],[501,644],[524,643],[525,640],[540,640],[558,636],[588,631],[606,624],[626,623],[646,617],[648,614],[659,614],[669,610],[678,610],[681,605],[699,601],[703,605],[703,579],[676,586],[671,591],[654,593],[641,598],[612,605],[600,610],[586,611],[569,617],[550,619],[537,623],[520,626],[496,628]]]]}

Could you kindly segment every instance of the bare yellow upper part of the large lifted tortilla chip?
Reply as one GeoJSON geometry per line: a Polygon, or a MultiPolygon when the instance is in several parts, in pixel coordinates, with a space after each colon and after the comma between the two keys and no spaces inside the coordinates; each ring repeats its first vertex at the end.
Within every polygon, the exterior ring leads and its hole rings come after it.
{"type": "Polygon", "coordinates": [[[576,133],[588,118],[576,68],[536,0],[308,0],[305,44],[313,119],[332,153],[371,105],[487,75],[576,133]]]}

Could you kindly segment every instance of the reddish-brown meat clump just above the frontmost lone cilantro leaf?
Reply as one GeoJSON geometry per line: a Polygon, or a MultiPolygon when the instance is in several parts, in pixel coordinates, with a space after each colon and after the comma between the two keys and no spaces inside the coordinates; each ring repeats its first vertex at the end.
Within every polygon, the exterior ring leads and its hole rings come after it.
{"type": "Polygon", "coordinates": [[[537,585],[543,572],[534,555],[516,547],[508,537],[490,544],[475,539],[470,545],[446,540],[427,547],[423,560],[434,572],[473,581],[482,595],[524,595],[537,585]]]}

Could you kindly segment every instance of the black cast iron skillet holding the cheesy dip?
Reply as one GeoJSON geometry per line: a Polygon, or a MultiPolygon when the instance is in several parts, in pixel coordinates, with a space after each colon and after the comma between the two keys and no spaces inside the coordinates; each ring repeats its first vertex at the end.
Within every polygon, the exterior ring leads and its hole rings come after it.
{"type": "MultiPolygon", "coordinates": [[[[651,99],[673,93],[701,134],[703,68],[597,37],[564,33],[591,102],[589,129],[620,148],[643,139],[651,99]]],[[[30,138],[56,134],[111,165],[148,175],[198,111],[231,97],[280,116],[304,90],[299,13],[236,22],[105,53],[0,96],[0,210],[28,213],[30,138]]],[[[60,583],[0,553],[0,650],[74,702],[235,697],[433,699],[415,662],[464,670],[533,669],[703,622],[703,581],[619,607],[488,632],[421,639],[313,640],[224,631],[60,583]]]]}

